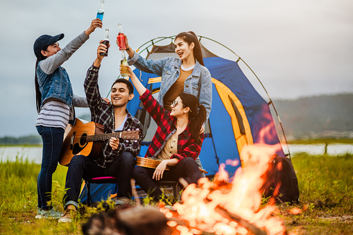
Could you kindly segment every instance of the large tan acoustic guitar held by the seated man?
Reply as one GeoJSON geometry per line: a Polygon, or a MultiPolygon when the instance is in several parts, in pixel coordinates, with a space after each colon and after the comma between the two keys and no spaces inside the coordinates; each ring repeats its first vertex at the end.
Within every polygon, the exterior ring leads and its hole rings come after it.
{"type": "Polygon", "coordinates": [[[62,143],[59,163],[67,166],[74,155],[96,158],[101,153],[103,141],[117,139],[139,140],[139,130],[128,130],[104,134],[104,126],[93,121],[83,123],[76,119],[76,124],[67,125],[62,143]]]}

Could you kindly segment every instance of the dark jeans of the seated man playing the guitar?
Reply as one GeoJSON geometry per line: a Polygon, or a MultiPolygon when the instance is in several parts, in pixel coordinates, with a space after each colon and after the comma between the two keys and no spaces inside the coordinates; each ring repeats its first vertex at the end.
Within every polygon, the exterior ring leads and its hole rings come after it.
{"type": "Polygon", "coordinates": [[[82,179],[93,177],[113,176],[118,177],[117,197],[131,196],[132,171],[135,167],[135,156],[130,152],[121,152],[113,162],[107,164],[106,168],[101,168],[96,162],[83,155],[76,155],[71,159],[69,169],[67,170],[64,195],[64,207],[68,204],[74,204],[78,207],[77,201],[80,195],[80,186],[82,179]]]}

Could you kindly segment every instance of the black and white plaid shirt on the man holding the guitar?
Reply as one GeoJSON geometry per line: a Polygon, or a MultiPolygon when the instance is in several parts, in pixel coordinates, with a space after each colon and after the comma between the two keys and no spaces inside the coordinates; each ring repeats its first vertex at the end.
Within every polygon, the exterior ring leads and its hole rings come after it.
{"type": "MultiPolygon", "coordinates": [[[[98,89],[98,71],[99,67],[93,65],[89,67],[85,79],[85,93],[89,110],[91,110],[92,120],[95,123],[99,123],[104,126],[104,133],[112,133],[114,130],[114,109],[111,104],[105,103],[101,98],[101,94],[98,89]]],[[[128,119],[126,120],[123,130],[142,130],[142,124],[134,116],[131,116],[130,112],[126,110],[128,119]]],[[[109,145],[109,139],[104,141],[101,155],[94,160],[98,166],[105,168],[110,162],[113,161],[114,157],[118,157],[121,151],[130,152],[132,155],[137,156],[141,145],[142,132],[140,132],[139,141],[130,141],[127,139],[119,139],[119,147],[117,150],[112,150],[109,145]]]]}

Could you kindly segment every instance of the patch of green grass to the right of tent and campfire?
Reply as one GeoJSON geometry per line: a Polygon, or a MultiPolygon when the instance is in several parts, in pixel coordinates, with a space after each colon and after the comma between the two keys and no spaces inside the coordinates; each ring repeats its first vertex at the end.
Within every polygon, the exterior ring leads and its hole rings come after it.
{"type": "Polygon", "coordinates": [[[300,153],[292,158],[300,204],[279,207],[289,231],[304,234],[353,234],[353,155],[300,153]],[[289,209],[299,207],[302,214],[289,209]]]}

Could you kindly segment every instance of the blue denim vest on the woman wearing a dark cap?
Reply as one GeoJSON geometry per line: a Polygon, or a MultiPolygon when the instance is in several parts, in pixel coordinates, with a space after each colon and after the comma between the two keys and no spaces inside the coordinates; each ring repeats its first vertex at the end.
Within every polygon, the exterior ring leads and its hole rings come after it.
{"type": "Polygon", "coordinates": [[[72,106],[73,92],[71,82],[67,71],[63,67],[58,67],[53,73],[46,74],[40,68],[40,62],[37,66],[37,78],[40,85],[42,101],[40,107],[49,98],[58,98],[63,103],[72,106]]]}

